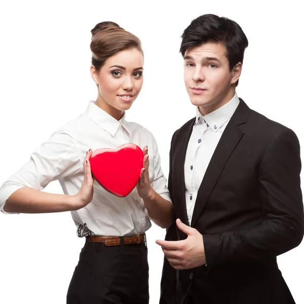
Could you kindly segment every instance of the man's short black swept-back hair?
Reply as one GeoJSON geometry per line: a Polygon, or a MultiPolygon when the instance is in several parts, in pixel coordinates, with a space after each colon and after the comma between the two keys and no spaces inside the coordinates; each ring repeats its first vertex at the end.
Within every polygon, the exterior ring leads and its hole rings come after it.
{"type": "MultiPolygon", "coordinates": [[[[221,43],[226,49],[230,70],[243,63],[248,40],[238,23],[212,14],[202,15],[191,21],[181,35],[180,53],[184,57],[188,47],[201,46],[207,42],[221,43]]],[[[239,81],[236,82],[236,86],[239,81]]]]}

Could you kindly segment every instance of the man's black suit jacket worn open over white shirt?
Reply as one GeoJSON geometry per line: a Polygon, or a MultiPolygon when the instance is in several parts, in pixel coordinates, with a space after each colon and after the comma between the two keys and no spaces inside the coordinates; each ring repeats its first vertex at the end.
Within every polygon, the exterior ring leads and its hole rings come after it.
{"type": "MultiPolygon", "coordinates": [[[[195,119],[171,141],[168,188],[175,218],[188,224],[184,160],[195,119]]],[[[174,270],[164,259],[160,304],[294,303],[276,256],[304,231],[300,147],[294,132],[240,99],[198,191],[191,226],[204,239],[207,267],[174,270]]],[[[199,170],[199,168],[196,168],[199,170]]],[[[175,222],[166,240],[186,235],[175,222]]]]}

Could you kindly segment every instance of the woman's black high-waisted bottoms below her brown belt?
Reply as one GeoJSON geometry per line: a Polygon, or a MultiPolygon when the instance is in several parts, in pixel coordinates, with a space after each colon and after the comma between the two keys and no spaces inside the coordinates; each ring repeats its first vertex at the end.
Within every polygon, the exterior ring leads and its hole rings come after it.
{"type": "Polygon", "coordinates": [[[68,287],[67,304],[148,304],[145,243],[105,246],[87,238],[68,287]]]}

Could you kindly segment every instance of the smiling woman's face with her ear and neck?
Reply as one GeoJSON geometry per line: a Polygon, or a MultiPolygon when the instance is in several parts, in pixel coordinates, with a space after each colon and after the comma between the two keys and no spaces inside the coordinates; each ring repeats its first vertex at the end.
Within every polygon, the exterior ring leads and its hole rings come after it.
{"type": "Polygon", "coordinates": [[[143,55],[133,48],[109,57],[99,72],[91,66],[98,85],[96,105],[120,120],[137,98],[143,81],[143,55]]]}

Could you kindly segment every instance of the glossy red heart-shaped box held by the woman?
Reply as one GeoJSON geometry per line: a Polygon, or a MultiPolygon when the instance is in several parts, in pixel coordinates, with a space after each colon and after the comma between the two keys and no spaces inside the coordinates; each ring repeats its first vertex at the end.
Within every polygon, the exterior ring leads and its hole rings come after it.
{"type": "Polygon", "coordinates": [[[140,178],[143,151],[134,143],[126,143],[115,149],[97,149],[89,161],[95,180],[110,193],[125,197],[140,178]]]}

